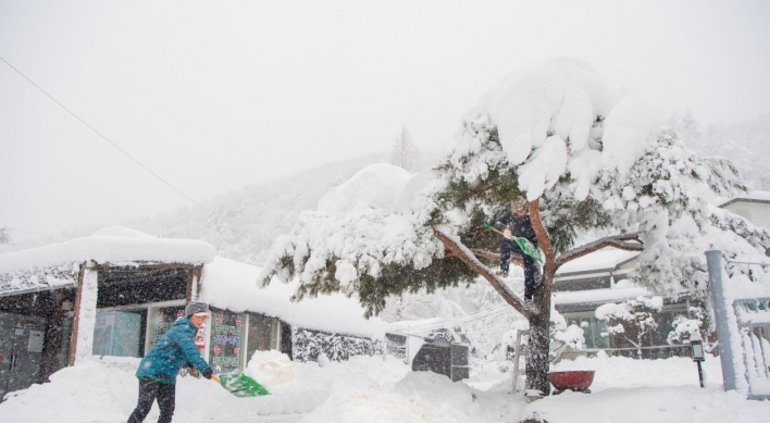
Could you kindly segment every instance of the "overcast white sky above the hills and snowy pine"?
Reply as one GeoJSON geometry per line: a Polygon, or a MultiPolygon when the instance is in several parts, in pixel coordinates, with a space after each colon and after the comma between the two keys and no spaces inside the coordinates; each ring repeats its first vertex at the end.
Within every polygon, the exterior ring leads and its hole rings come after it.
{"type": "MultiPolygon", "coordinates": [[[[762,0],[0,0],[0,57],[201,201],[387,151],[401,125],[446,150],[496,80],[554,55],[703,123],[766,114],[768,16],[762,0]]],[[[0,227],[185,204],[0,62],[0,227]]]]}

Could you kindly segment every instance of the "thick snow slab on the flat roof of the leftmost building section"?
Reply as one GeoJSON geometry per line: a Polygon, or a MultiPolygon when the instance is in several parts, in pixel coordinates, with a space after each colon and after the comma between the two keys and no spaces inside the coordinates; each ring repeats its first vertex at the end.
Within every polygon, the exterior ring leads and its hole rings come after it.
{"type": "Polygon", "coordinates": [[[194,239],[157,238],[127,227],[107,227],[64,242],[0,254],[0,274],[92,260],[97,263],[209,263],[214,247],[194,239]]]}

